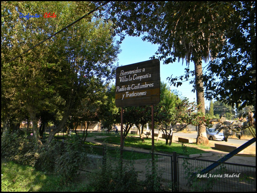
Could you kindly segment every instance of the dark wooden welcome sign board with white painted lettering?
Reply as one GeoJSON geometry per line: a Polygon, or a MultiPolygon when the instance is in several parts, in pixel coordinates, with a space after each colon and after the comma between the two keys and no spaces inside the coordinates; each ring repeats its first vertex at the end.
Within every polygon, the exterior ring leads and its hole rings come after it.
{"type": "Polygon", "coordinates": [[[160,61],[148,60],[116,69],[116,107],[154,105],[160,102],[160,61]]]}

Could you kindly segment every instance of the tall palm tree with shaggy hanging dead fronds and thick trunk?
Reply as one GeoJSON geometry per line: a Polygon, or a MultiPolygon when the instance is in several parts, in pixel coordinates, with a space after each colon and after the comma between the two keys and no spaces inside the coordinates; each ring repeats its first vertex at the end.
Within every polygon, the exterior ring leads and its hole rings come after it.
{"type": "MultiPolygon", "coordinates": [[[[185,59],[186,64],[189,65],[190,61],[194,63],[195,67],[195,82],[194,88],[196,90],[197,104],[200,105],[198,111],[205,115],[205,98],[203,88],[203,69],[202,61],[207,62],[211,58],[212,53],[215,55],[217,44],[213,41],[216,38],[220,43],[223,41],[221,34],[215,33],[215,28],[218,24],[215,20],[218,12],[207,11],[207,6],[210,4],[199,2],[167,2],[161,7],[162,13],[166,11],[163,20],[165,25],[157,27],[154,33],[161,34],[159,42],[166,42],[169,47],[167,50],[173,50],[174,58],[185,59]],[[215,26],[216,25],[216,26],[215,26]],[[163,26],[165,26],[163,28],[163,26]],[[213,30],[210,30],[213,29],[213,30]]],[[[213,7],[222,9],[220,4],[213,3],[213,7]]],[[[153,35],[153,34],[152,34],[153,35]]],[[[218,41],[217,41],[218,42],[218,41]]],[[[161,44],[159,53],[166,56],[166,63],[171,59],[167,57],[167,50],[162,51],[161,44]]],[[[205,125],[198,124],[198,136],[196,139],[197,144],[208,144],[209,140],[206,136],[205,125]]]]}

